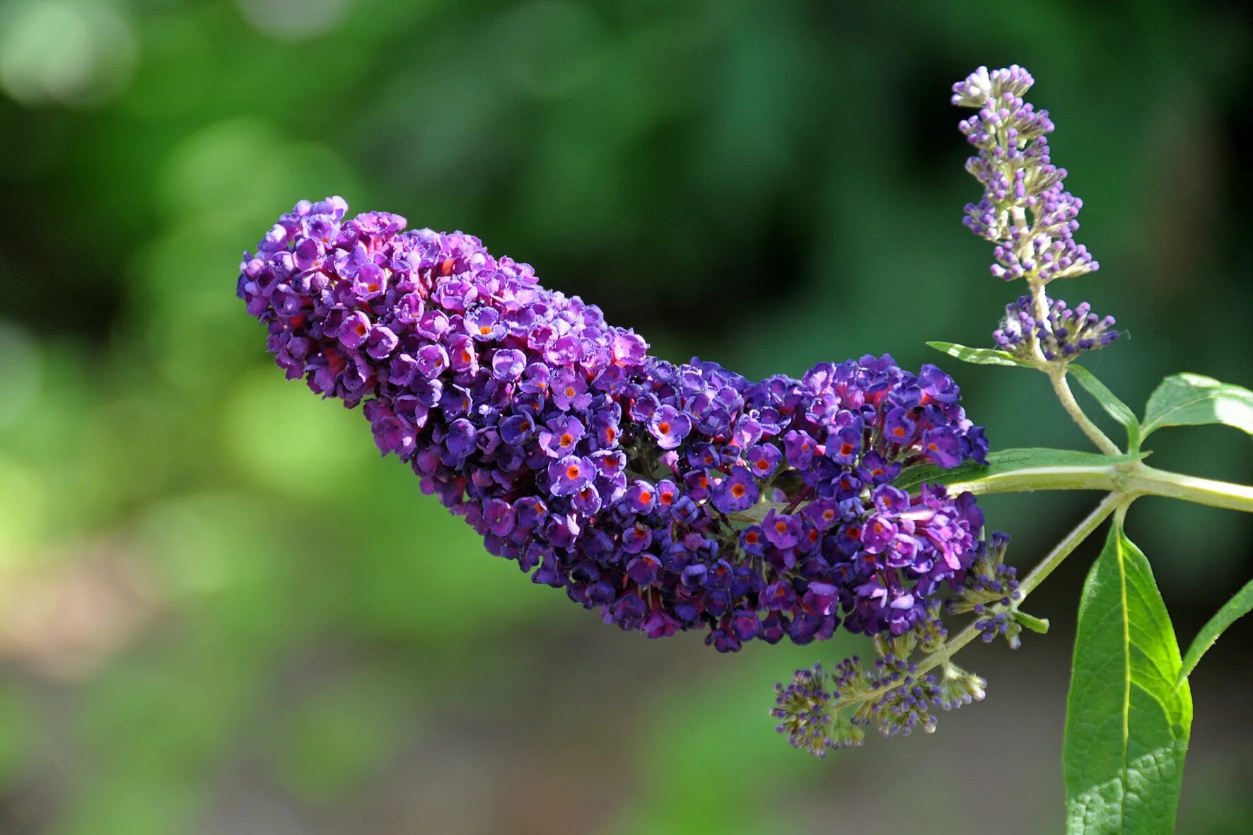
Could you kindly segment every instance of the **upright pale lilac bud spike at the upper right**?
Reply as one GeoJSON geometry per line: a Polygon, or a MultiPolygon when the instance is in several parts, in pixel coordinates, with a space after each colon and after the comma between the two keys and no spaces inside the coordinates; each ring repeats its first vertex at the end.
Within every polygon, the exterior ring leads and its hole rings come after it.
{"type": "Polygon", "coordinates": [[[1049,282],[1100,266],[1075,242],[1083,201],[1065,191],[1066,171],[1049,158],[1049,112],[1022,100],[1034,83],[1014,65],[991,73],[980,66],[952,85],[955,105],[979,110],[959,124],[979,149],[966,171],[984,187],[979,203],[966,206],[964,223],[996,243],[991,272],[1006,281],[1049,282]]]}

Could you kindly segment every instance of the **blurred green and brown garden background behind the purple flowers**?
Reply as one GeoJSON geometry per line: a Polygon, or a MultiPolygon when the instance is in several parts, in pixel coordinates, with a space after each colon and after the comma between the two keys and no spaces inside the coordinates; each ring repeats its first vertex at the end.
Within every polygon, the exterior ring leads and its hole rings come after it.
{"type": "MultiPolygon", "coordinates": [[[[461,228],[669,359],[747,375],[989,341],[949,87],[1021,63],[1133,405],[1250,369],[1249,18],[1215,3],[0,0],[0,832],[1051,834],[1089,548],[979,706],[826,761],[774,681],[858,649],[648,642],[489,557],[284,382],[234,297],[299,198],[461,228]],[[1245,150],[1239,150],[1244,147],[1245,150]]],[[[1032,375],[945,366],[996,448],[1085,440],[1032,375]]],[[[1110,430],[1113,431],[1113,430],[1110,430]]],[[[1248,479],[1248,439],[1160,466],[1248,479]]],[[[986,502],[1030,564],[1086,495],[986,502]]],[[[1248,518],[1143,502],[1183,641],[1248,518]]],[[[1194,677],[1180,831],[1248,832],[1237,624],[1194,677]]]]}

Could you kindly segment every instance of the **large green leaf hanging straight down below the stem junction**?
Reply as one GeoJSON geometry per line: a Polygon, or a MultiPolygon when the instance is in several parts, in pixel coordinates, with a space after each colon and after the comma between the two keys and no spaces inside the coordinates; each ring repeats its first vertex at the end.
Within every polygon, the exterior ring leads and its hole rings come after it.
{"type": "Polygon", "coordinates": [[[1084,583],[1066,701],[1066,831],[1174,829],[1192,695],[1149,562],[1111,525],[1084,583]]]}

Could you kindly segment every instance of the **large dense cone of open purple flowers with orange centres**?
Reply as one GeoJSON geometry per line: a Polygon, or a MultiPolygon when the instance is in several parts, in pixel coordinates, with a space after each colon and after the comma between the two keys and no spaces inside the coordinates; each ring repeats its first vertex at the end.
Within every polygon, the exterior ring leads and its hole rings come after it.
{"type": "MultiPolygon", "coordinates": [[[[462,233],[301,202],[238,293],[289,379],[348,406],[535,583],[649,637],[901,634],[980,552],[974,496],[892,486],[984,461],[935,366],[891,357],[749,382],[673,365],[462,233]]],[[[933,611],[933,607],[932,607],[933,611]]]]}

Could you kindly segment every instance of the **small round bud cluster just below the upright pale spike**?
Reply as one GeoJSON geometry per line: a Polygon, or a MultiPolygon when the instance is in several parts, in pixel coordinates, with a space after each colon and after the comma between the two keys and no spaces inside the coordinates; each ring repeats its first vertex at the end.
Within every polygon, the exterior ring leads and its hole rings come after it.
{"type": "Polygon", "coordinates": [[[1091,305],[1081,302],[1074,310],[1063,300],[1045,296],[1048,318],[1037,318],[1031,296],[1021,296],[1005,306],[1005,318],[992,332],[996,345],[1020,360],[1031,359],[1031,335],[1040,341],[1044,359],[1069,362],[1085,351],[1099,351],[1118,339],[1114,317],[1101,318],[1091,305]]]}

